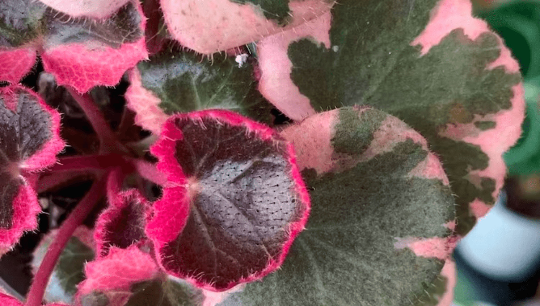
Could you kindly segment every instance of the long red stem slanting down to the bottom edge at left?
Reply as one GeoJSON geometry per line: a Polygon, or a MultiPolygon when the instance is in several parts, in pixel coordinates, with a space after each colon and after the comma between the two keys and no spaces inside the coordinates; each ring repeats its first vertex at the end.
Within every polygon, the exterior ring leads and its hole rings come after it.
{"type": "Polygon", "coordinates": [[[52,242],[51,246],[47,250],[45,257],[39,269],[34,276],[32,286],[28,293],[28,300],[26,300],[26,306],[40,306],[45,293],[45,288],[49,282],[52,270],[56,265],[60,254],[71,238],[76,228],[83,223],[83,220],[90,213],[92,208],[98,203],[98,200],[103,196],[105,189],[106,177],[101,177],[96,180],[90,190],[85,194],[82,200],[75,209],[65,219],[62,226],[58,230],[58,235],[52,242]]]}

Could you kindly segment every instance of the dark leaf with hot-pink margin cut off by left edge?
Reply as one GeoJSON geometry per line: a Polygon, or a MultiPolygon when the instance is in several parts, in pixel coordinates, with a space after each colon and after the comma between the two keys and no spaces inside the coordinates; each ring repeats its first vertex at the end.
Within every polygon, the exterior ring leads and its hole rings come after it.
{"type": "Polygon", "coordinates": [[[56,162],[64,148],[59,129],[60,115],[36,93],[0,88],[0,253],[37,226],[41,207],[30,174],[56,162]]]}

